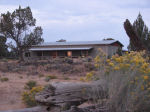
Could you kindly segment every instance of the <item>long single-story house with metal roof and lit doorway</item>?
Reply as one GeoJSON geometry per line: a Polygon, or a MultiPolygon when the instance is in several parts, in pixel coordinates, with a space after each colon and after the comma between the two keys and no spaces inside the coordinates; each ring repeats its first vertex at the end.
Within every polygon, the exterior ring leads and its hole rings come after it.
{"type": "Polygon", "coordinates": [[[56,57],[95,57],[101,48],[106,56],[114,55],[123,45],[118,40],[104,39],[102,41],[56,41],[33,45],[25,53],[24,59],[49,59],[56,57]]]}

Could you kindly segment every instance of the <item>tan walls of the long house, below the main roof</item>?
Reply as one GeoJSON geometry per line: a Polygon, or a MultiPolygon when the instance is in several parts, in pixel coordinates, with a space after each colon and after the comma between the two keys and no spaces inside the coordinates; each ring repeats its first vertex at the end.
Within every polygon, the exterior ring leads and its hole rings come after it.
{"type": "MultiPolygon", "coordinates": [[[[118,48],[120,46],[117,45],[72,45],[72,46],[61,46],[61,48],[73,48],[73,47],[93,47],[91,50],[88,50],[88,55],[92,56],[93,58],[96,57],[99,53],[99,48],[101,48],[104,53],[106,54],[106,57],[111,57],[114,55],[118,48]]],[[[33,47],[34,48],[34,47],[33,47]]],[[[36,47],[37,48],[37,47],[36,47]]],[[[60,48],[60,46],[42,46],[38,48],[60,48]]],[[[41,51],[42,52],[42,51],[41,51]]],[[[52,56],[52,53],[54,51],[43,51],[43,56],[52,56]]],[[[72,51],[72,56],[81,56],[82,52],[81,51],[72,51]]],[[[37,57],[37,51],[30,51],[30,56],[31,57],[37,57]]],[[[67,51],[59,51],[57,52],[57,56],[67,56],[67,51]]],[[[28,58],[28,57],[24,57],[28,58]]]]}

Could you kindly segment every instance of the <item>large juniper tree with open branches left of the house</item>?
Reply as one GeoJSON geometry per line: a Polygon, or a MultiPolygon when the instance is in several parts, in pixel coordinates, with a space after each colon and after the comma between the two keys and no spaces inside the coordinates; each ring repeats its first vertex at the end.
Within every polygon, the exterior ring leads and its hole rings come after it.
{"type": "Polygon", "coordinates": [[[30,7],[21,8],[19,6],[14,12],[1,14],[1,33],[15,42],[11,44],[23,61],[23,52],[32,45],[43,42],[42,28],[36,26],[36,19],[33,18],[30,7]]]}

